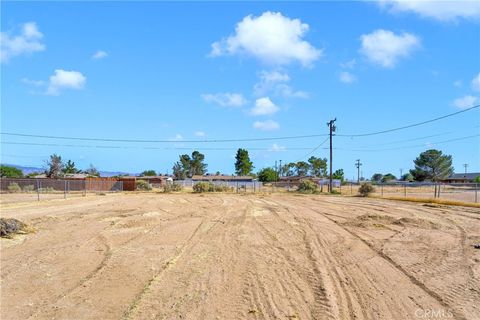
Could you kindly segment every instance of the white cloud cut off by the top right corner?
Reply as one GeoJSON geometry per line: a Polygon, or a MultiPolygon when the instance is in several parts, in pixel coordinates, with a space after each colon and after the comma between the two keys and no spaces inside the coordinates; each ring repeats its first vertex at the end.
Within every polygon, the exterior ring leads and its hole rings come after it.
{"type": "Polygon", "coordinates": [[[478,0],[380,0],[379,4],[392,13],[413,12],[422,17],[442,21],[480,18],[480,2],[478,0]]]}

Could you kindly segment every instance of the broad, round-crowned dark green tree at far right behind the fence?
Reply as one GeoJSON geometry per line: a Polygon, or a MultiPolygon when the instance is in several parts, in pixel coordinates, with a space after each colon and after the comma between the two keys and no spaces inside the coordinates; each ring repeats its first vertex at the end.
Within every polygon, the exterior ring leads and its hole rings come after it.
{"type": "Polygon", "coordinates": [[[413,163],[415,169],[410,170],[410,173],[416,181],[439,181],[453,173],[452,156],[444,155],[440,150],[422,152],[413,163]]]}

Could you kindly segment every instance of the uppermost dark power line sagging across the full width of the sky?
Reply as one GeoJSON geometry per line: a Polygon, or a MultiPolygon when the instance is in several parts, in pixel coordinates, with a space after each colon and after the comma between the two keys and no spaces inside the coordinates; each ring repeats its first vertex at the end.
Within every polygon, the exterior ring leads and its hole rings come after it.
{"type": "MultiPolygon", "coordinates": [[[[408,128],[413,128],[417,126],[421,126],[427,123],[435,122],[438,120],[442,120],[448,117],[452,117],[476,108],[479,108],[480,105],[472,106],[470,108],[460,110],[454,113],[450,113],[438,118],[397,127],[393,129],[387,129],[382,131],[376,132],[369,132],[369,133],[361,133],[361,134],[337,134],[338,137],[366,137],[366,136],[373,136],[383,133],[389,133],[399,130],[404,130],[408,128]]],[[[283,137],[268,137],[268,138],[241,138],[241,139],[206,139],[206,140],[142,140],[142,139],[113,139],[113,138],[88,138],[88,137],[68,137],[68,136],[51,136],[51,135],[35,135],[35,134],[26,134],[26,133],[15,133],[15,132],[0,132],[1,135],[5,136],[16,136],[16,137],[26,137],[26,138],[43,138],[43,139],[59,139],[59,140],[80,140],[80,141],[103,141],[103,142],[128,142],[128,143],[219,143],[219,142],[252,142],[252,141],[272,141],[272,140],[292,140],[292,139],[307,139],[307,138],[318,138],[318,137],[325,137],[328,134],[308,134],[308,135],[297,135],[297,136],[283,136],[283,137]]]]}

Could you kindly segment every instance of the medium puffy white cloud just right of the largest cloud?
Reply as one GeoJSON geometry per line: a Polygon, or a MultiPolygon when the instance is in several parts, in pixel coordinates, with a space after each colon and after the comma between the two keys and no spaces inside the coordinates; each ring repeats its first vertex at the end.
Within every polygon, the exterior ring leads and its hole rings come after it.
{"type": "Polygon", "coordinates": [[[400,58],[420,46],[420,39],[410,33],[396,35],[392,31],[378,29],[360,37],[360,52],[373,63],[385,68],[393,68],[400,58]]]}

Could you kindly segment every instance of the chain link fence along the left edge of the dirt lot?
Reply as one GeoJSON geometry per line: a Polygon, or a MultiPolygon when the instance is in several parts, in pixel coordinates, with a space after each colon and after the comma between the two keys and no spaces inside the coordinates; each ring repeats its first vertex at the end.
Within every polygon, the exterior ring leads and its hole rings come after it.
{"type": "Polygon", "coordinates": [[[86,196],[123,190],[123,183],[105,179],[0,179],[2,203],[86,196]]]}

